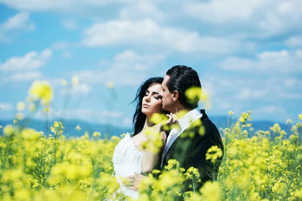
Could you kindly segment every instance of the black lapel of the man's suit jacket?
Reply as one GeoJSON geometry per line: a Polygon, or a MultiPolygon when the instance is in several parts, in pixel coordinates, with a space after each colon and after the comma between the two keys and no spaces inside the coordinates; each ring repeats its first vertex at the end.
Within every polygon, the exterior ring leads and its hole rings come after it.
{"type": "MultiPolygon", "coordinates": [[[[207,115],[205,114],[205,110],[200,110],[200,112],[202,114],[200,118],[201,122],[208,119],[207,115]]],[[[180,134],[180,136],[178,136],[178,138],[172,143],[170,149],[167,151],[164,157],[163,166],[164,166],[164,162],[167,163],[169,159],[172,157],[172,155],[174,154],[174,152],[189,138],[188,136],[186,136],[184,132],[185,131],[183,131],[180,134]]]]}

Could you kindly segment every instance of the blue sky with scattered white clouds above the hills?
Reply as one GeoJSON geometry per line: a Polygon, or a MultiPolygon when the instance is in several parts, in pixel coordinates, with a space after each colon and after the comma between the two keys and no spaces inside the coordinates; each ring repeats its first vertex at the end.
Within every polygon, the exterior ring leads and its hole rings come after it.
{"type": "Polygon", "coordinates": [[[66,117],[129,127],[139,84],[173,65],[199,73],[209,116],[251,110],[285,122],[302,112],[299,0],[3,0],[0,13],[0,119],[14,117],[36,79],[52,84],[59,117],[59,80],[77,75],[66,117]]]}

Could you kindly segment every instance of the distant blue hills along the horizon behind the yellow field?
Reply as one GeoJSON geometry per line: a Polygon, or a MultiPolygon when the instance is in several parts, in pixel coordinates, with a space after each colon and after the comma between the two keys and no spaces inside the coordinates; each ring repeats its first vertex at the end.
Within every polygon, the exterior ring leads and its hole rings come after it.
{"type": "MultiPolygon", "coordinates": [[[[225,128],[228,126],[228,117],[209,117],[210,120],[217,126],[217,128],[225,128]]],[[[237,119],[234,119],[231,123],[234,123],[237,119]]],[[[58,121],[58,120],[53,120],[53,121],[58,121]]],[[[53,125],[53,121],[50,120],[48,121],[47,128],[48,132],[47,135],[50,134],[50,127],[53,125]]],[[[109,134],[109,138],[116,135],[120,136],[123,133],[126,132],[132,132],[132,128],[120,128],[112,125],[105,125],[105,124],[95,124],[95,123],[89,123],[81,120],[63,120],[62,121],[63,126],[64,126],[64,135],[66,137],[80,137],[84,135],[85,131],[88,131],[90,136],[94,131],[100,132],[101,133],[101,138],[104,137],[104,134],[107,133],[109,134]],[[80,126],[82,129],[80,131],[75,130],[74,128],[76,126],[80,126]]],[[[257,130],[264,130],[267,131],[269,130],[270,127],[272,127],[275,122],[271,121],[252,121],[252,127],[257,130]]],[[[5,127],[8,124],[13,124],[13,120],[0,120],[0,125],[5,127]]],[[[46,134],[46,121],[45,120],[36,120],[32,119],[30,121],[27,121],[26,119],[20,122],[20,125],[33,128],[37,131],[43,131],[46,134]]],[[[285,130],[286,132],[289,132],[290,127],[285,125],[284,123],[279,123],[281,129],[285,130]]],[[[0,131],[2,134],[2,131],[0,131]]]]}

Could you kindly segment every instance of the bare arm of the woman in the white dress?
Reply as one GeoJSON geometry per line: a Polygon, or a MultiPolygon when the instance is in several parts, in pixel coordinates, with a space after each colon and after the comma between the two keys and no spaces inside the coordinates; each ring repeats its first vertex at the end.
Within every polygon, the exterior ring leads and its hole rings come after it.
{"type": "MultiPolygon", "coordinates": [[[[160,131],[159,131],[160,132],[160,131]]],[[[156,167],[159,165],[159,159],[160,159],[160,154],[162,154],[162,151],[164,149],[164,145],[166,143],[167,135],[165,131],[161,132],[161,137],[162,141],[162,147],[160,148],[158,153],[155,153],[154,150],[152,150],[152,147],[154,145],[149,144],[148,147],[145,150],[145,153],[142,157],[142,162],[141,162],[141,172],[142,173],[149,173],[152,172],[156,167]]]]}

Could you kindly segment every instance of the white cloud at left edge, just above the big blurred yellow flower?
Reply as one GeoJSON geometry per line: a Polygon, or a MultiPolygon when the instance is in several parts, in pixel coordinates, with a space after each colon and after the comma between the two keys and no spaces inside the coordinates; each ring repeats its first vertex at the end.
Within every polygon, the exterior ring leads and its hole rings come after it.
{"type": "Polygon", "coordinates": [[[17,71],[17,70],[34,70],[43,67],[50,57],[50,49],[43,50],[40,54],[36,51],[28,52],[23,57],[11,57],[3,64],[0,64],[0,70],[17,71]]]}

